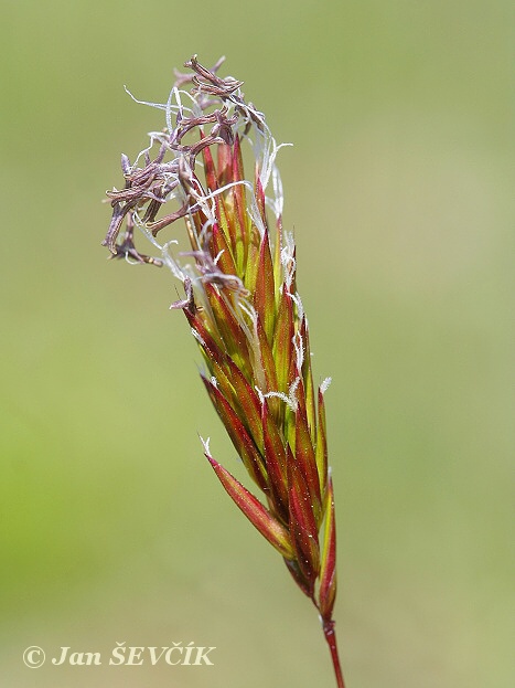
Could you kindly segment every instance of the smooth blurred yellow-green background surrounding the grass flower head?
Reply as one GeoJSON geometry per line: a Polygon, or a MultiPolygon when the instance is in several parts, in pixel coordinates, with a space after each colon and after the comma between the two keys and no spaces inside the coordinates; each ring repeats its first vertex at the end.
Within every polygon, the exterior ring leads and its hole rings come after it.
{"type": "Polygon", "coordinates": [[[332,686],[319,622],[223,494],[234,453],[164,271],[100,201],[193,53],[278,140],[336,489],[350,688],[513,685],[511,2],[3,0],[2,686],[332,686]],[[216,646],[25,668],[29,645],[216,646]]]}

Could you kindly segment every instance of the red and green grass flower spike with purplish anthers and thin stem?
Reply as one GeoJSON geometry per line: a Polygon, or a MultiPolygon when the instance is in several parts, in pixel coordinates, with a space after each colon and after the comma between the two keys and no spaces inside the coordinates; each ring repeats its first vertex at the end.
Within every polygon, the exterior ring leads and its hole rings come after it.
{"type": "MultiPolygon", "coordinates": [[[[171,308],[189,321],[204,385],[261,499],[213,458],[207,442],[205,456],[316,605],[336,668],[330,379],[315,389],[293,236],[281,224],[280,146],[264,115],[244,100],[242,82],[216,75],[221,64],[206,70],[192,57],[185,66],[193,75],[176,73],[165,104],[146,103],[164,110],[167,127],[149,135],[133,163],[122,156],[125,187],[107,192],[112,220],[104,244],[112,257],[168,265],[183,283],[185,297],[171,308]],[[189,82],[191,92],[183,89],[189,82]],[[244,144],[253,150],[253,179],[245,177],[244,144]],[[180,219],[191,244],[181,261],[172,255],[174,242],[160,239],[180,219]],[[139,253],[136,227],[159,257],[139,253]]],[[[339,665],[336,678],[343,686],[339,665]]]]}

